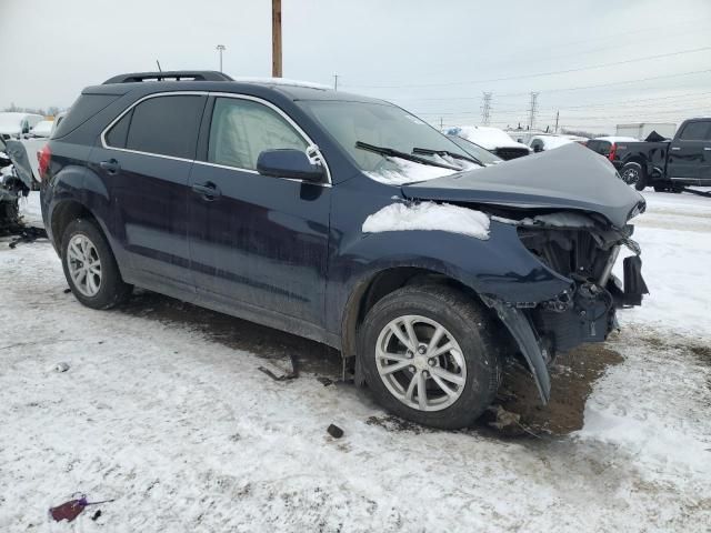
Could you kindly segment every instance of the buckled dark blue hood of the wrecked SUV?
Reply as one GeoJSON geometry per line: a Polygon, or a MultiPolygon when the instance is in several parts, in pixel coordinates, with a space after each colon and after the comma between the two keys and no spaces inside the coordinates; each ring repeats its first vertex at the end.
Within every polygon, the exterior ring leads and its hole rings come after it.
{"type": "Polygon", "coordinates": [[[567,144],[469,172],[402,185],[407,198],[472,202],[521,209],[599,213],[622,228],[642,195],[625,184],[601,155],[567,144]]]}

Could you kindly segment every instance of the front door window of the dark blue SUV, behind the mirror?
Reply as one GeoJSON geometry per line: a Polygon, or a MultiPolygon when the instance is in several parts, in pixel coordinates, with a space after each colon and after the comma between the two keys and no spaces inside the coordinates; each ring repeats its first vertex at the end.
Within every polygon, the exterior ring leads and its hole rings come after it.
{"type": "Polygon", "coordinates": [[[307,141],[277,111],[251,100],[218,98],[214,101],[208,161],[257,170],[264,150],[296,149],[306,152],[307,141]]]}

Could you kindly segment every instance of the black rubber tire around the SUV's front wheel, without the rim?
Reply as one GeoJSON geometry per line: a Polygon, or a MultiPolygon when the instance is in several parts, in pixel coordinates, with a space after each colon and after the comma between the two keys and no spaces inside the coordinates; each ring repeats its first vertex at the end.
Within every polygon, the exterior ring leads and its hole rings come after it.
{"type": "Polygon", "coordinates": [[[469,426],[491,404],[499,389],[501,362],[494,331],[492,321],[480,305],[461,291],[444,285],[399,289],[375,303],[359,329],[359,358],[365,382],[384,409],[403,419],[448,430],[469,426]],[[438,411],[413,409],[384,384],[375,362],[378,339],[392,320],[404,315],[435,321],[459,344],[467,376],[459,398],[451,405],[438,411]]]}

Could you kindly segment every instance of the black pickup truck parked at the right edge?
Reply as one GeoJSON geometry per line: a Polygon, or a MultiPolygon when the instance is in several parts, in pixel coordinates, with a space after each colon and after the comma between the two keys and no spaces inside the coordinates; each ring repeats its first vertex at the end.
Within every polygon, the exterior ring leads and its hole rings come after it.
{"type": "Polygon", "coordinates": [[[671,141],[619,142],[609,159],[638,191],[711,187],[711,118],[684,121],[671,141]]]}

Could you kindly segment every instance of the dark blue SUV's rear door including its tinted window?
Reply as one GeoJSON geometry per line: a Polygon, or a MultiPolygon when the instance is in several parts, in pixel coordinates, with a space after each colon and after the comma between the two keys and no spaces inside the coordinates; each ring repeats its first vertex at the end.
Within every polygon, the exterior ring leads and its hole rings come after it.
{"type": "Polygon", "coordinates": [[[91,161],[107,184],[113,237],[133,281],[194,291],[188,191],[207,95],[153,94],[103,133],[91,161]]]}

